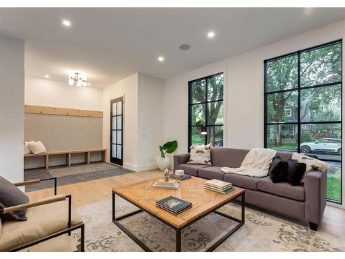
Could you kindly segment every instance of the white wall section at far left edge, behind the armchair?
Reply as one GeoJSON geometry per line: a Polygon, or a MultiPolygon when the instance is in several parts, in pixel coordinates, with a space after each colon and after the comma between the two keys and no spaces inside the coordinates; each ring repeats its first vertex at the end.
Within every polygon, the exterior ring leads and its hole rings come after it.
{"type": "Polygon", "coordinates": [[[0,175],[23,180],[24,42],[0,35],[0,175]]]}

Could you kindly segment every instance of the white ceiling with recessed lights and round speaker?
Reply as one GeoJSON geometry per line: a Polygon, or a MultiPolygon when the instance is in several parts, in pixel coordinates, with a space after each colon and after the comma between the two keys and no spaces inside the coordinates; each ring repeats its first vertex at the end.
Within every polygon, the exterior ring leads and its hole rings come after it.
{"type": "Polygon", "coordinates": [[[76,70],[103,88],[136,72],[172,77],[342,19],[344,8],[0,8],[0,33],[26,42],[26,75],[67,82],[76,70]]]}

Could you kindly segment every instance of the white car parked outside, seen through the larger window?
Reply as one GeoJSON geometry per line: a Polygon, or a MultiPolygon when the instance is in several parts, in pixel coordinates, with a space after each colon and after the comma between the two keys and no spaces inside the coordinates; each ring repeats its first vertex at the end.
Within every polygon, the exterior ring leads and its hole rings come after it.
{"type": "Polygon", "coordinates": [[[319,139],[315,142],[305,142],[301,144],[302,153],[311,153],[313,151],[336,152],[342,154],[342,140],[340,139],[319,139]]]}

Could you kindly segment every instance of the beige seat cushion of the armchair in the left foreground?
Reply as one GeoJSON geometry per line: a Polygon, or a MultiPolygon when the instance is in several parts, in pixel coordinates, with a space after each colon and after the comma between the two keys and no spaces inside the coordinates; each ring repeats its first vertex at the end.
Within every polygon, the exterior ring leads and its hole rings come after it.
{"type": "MultiPolygon", "coordinates": [[[[54,202],[29,208],[26,221],[3,222],[0,237],[0,251],[17,247],[19,244],[48,236],[67,228],[68,202],[54,202]]],[[[72,226],[83,222],[72,209],[72,226]]]]}

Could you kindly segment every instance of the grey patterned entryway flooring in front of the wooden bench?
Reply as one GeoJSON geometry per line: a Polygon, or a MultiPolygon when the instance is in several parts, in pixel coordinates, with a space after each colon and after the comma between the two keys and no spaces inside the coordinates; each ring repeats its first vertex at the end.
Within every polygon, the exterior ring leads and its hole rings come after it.
{"type": "MultiPolygon", "coordinates": [[[[101,178],[109,178],[116,175],[123,175],[131,171],[119,166],[104,162],[94,162],[92,164],[75,164],[72,166],[55,166],[52,169],[26,169],[24,170],[24,180],[44,179],[57,177],[57,186],[86,182],[101,178]]],[[[25,191],[37,191],[54,187],[54,181],[44,181],[39,184],[26,186],[25,191]]]]}

